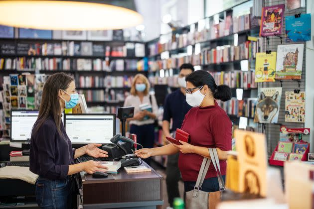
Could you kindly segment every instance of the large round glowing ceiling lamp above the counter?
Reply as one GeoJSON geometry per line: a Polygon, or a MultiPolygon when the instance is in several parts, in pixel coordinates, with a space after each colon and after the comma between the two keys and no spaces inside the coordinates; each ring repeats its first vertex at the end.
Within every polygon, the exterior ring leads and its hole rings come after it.
{"type": "Polygon", "coordinates": [[[44,30],[108,30],[143,22],[141,14],[125,7],[130,5],[129,0],[120,0],[122,6],[117,6],[117,2],[119,0],[0,0],[0,24],[44,30]]]}

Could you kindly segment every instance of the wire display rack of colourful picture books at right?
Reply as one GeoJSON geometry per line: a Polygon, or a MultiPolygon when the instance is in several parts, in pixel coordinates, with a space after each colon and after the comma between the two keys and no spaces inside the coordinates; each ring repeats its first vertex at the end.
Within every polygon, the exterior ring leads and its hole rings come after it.
{"type": "Polygon", "coordinates": [[[263,0],[260,36],[264,39],[265,52],[257,54],[255,66],[258,101],[254,121],[260,124],[259,131],[267,137],[269,161],[273,165],[283,165],[290,160],[308,160],[310,148],[306,134],[302,135],[301,142],[283,141],[283,133],[278,126],[285,125],[290,131],[310,132],[304,127],[304,122],[305,49],[306,41],[311,39],[311,14],[306,14],[304,5],[300,7],[300,4],[289,2],[288,5],[286,0],[276,3],[263,0]],[[271,105],[261,108],[262,104],[271,105]],[[283,152],[281,146],[290,152],[283,152]],[[305,149],[304,153],[296,152],[298,148],[305,149]]]}

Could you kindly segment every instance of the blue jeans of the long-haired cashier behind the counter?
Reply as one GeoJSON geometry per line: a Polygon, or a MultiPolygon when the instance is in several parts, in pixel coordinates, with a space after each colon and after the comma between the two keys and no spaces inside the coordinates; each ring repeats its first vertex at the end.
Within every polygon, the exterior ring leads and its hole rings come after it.
{"type": "Polygon", "coordinates": [[[39,177],[36,182],[36,202],[41,209],[71,208],[71,178],[49,180],[39,177]]]}

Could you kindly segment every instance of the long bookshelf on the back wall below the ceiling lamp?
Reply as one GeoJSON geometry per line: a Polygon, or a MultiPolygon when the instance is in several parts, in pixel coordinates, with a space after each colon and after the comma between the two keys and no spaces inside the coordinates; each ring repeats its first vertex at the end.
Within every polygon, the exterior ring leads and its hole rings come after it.
{"type": "MultiPolygon", "coordinates": [[[[134,76],[147,75],[145,50],[145,43],[137,41],[0,39],[0,78],[65,72],[73,76],[89,107],[103,106],[107,112],[116,112],[128,96],[134,76]]],[[[6,93],[5,104],[11,105],[14,94],[6,93]]],[[[27,105],[17,103],[17,107],[27,105]]]]}

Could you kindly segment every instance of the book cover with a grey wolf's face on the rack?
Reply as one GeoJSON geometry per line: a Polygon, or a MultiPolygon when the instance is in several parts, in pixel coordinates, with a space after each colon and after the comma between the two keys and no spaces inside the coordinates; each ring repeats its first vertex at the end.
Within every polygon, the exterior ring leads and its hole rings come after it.
{"type": "Polygon", "coordinates": [[[254,122],[277,123],[282,87],[259,88],[254,122]]]}

